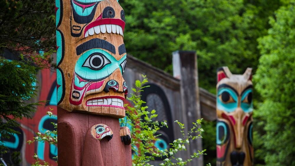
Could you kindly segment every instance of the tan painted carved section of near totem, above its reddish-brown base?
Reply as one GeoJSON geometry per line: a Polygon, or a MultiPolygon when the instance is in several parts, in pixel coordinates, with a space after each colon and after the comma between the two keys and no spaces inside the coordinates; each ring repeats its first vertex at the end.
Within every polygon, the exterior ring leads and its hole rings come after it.
{"type": "Polygon", "coordinates": [[[57,3],[58,105],[69,111],[124,117],[122,7],[117,0],[57,3]]]}

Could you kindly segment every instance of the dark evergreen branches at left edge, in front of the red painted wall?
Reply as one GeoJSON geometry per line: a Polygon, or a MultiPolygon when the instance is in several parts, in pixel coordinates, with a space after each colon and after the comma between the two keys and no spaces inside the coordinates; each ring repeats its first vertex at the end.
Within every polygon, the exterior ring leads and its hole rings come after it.
{"type": "MultiPolygon", "coordinates": [[[[41,102],[30,103],[34,99],[37,87],[36,82],[38,66],[30,62],[9,61],[0,59],[0,134],[3,138],[9,138],[11,134],[18,132],[12,129],[19,124],[17,120],[30,118],[36,106],[41,102]]],[[[5,149],[0,140],[0,150],[5,149]]],[[[5,151],[4,151],[5,152],[5,151]]]]}

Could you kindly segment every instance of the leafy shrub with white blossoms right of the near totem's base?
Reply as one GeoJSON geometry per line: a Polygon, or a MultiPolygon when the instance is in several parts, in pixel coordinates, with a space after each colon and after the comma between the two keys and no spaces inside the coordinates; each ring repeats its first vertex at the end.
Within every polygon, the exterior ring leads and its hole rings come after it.
{"type": "Polygon", "coordinates": [[[154,148],[154,142],[157,141],[157,135],[155,133],[161,127],[168,127],[167,122],[158,122],[153,121],[152,118],[157,117],[155,114],[156,111],[152,110],[151,112],[146,111],[147,106],[142,107],[142,104],[145,103],[140,99],[140,96],[137,94],[142,89],[148,86],[143,86],[147,83],[148,80],[143,76],[143,81],[140,82],[137,80],[135,86],[138,89],[132,88],[135,94],[128,98],[134,105],[133,107],[127,106],[128,110],[126,111],[127,117],[126,121],[123,121],[124,126],[131,126],[131,135],[132,135],[132,150],[135,152],[132,159],[133,165],[150,165],[148,162],[154,160],[155,157],[164,157],[163,163],[160,165],[186,165],[188,162],[192,161],[193,158],[199,157],[199,155],[204,154],[205,150],[194,153],[187,160],[182,158],[175,158],[173,155],[179,151],[186,150],[186,146],[189,145],[189,141],[201,138],[201,133],[203,132],[202,128],[199,128],[198,125],[201,124],[201,120],[197,120],[194,124],[194,127],[191,128],[188,133],[184,133],[184,125],[178,121],[179,127],[181,128],[182,138],[176,139],[173,143],[170,144],[169,149],[159,150],[154,148]]]}

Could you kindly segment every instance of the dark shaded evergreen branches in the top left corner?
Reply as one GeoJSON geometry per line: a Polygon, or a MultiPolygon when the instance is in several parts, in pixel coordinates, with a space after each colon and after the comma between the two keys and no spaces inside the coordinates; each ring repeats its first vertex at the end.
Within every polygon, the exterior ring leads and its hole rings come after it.
{"type": "Polygon", "coordinates": [[[0,0],[0,6],[0,38],[6,49],[17,54],[55,47],[54,0],[0,0]]]}

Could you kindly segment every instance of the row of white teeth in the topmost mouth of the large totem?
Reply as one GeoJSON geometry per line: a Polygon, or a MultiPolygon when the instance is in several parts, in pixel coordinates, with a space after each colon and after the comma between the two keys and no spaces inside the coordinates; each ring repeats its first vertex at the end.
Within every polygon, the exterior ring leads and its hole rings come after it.
{"type": "Polygon", "coordinates": [[[96,34],[99,34],[100,32],[101,33],[105,33],[105,32],[117,33],[117,34],[120,34],[120,35],[124,36],[123,35],[123,29],[122,29],[121,26],[114,25],[114,24],[104,24],[104,25],[98,25],[98,26],[92,27],[89,30],[87,30],[87,32],[85,33],[84,38],[88,37],[89,35],[94,35],[94,32],[96,34]]]}

